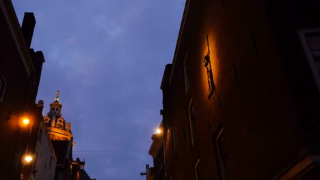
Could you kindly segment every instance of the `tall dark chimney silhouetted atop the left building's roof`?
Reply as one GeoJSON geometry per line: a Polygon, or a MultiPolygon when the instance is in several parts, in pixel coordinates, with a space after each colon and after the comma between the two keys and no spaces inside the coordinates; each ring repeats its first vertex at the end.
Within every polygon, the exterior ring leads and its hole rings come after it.
{"type": "Polygon", "coordinates": [[[36,25],[36,18],[34,18],[33,12],[25,12],[23,17],[23,25],[21,26],[21,31],[25,37],[25,42],[28,48],[30,48],[32,36],[34,35],[34,27],[36,25]]]}

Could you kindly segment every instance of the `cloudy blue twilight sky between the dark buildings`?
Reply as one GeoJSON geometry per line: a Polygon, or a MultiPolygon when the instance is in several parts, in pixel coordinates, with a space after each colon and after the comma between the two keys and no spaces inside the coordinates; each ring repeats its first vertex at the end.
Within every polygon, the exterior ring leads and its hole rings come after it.
{"type": "MultiPolygon", "coordinates": [[[[60,91],[74,151],[148,150],[160,125],[160,90],[172,62],[185,0],[12,0],[18,20],[34,12],[31,48],[46,62],[38,91],[49,111],[60,91]]],[[[90,177],[145,179],[148,152],[75,152],[90,177]]]]}

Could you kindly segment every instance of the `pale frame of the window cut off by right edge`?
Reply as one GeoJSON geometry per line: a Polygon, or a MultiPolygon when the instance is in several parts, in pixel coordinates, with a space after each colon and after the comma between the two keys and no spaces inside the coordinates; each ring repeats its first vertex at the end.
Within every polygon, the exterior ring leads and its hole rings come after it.
{"type": "Polygon", "coordinates": [[[299,29],[298,35],[300,38],[300,41],[302,43],[302,47],[304,48],[304,53],[306,54],[306,57],[308,59],[308,63],[310,65],[311,72],[313,74],[313,77],[315,78],[315,81],[317,83],[318,91],[320,92],[320,76],[317,68],[317,64],[315,63],[315,59],[312,55],[312,51],[310,50],[310,46],[308,45],[308,42],[306,40],[306,34],[307,33],[320,33],[320,28],[313,28],[313,29],[299,29]]]}

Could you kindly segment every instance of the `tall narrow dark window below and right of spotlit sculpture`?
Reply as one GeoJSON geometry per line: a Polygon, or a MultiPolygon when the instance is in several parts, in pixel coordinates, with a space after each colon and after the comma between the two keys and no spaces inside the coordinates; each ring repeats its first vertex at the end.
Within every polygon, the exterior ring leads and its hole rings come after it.
{"type": "Polygon", "coordinates": [[[228,151],[226,150],[226,142],[224,138],[224,129],[221,128],[215,138],[215,148],[217,151],[217,161],[219,165],[220,178],[227,179],[228,175],[228,151]]]}

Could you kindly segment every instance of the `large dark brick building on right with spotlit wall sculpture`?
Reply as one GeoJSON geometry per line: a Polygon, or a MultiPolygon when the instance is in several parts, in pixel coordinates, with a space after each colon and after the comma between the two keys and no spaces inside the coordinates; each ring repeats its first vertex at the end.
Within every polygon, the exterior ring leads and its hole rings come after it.
{"type": "Polygon", "coordinates": [[[320,1],[187,0],[163,179],[320,179],[319,57],[320,1]]]}

